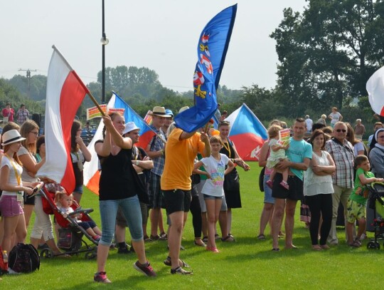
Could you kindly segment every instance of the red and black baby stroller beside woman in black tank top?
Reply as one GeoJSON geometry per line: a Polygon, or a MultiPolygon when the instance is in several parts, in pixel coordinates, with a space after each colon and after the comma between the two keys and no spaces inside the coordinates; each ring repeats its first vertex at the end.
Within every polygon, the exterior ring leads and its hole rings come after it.
{"type": "MultiPolygon", "coordinates": [[[[58,248],[65,251],[63,254],[85,253],[86,259],[94,259],[97,257],[98,242],[92,239],[85,229],[78,225],[76,219],[78,214],[82,214],[82,222],[92,221],[89,214],[93,212],[93,209],[82,209],[77,202],[73,201],[71,207],[74,211],[70,214],[62,212],[54,202],[55,192],[60,189],[62,189],[60,185],[48,184],[44,185],[40,190],[43,197],[41,200],[44,212],[46,214],[54,214],[56,223],[60,226],[58,230],[58,248]],[[83,237],[86,237],[89,241],[87,242],[83,237]]],[[[61,254],[53,254],[50,249],[42,249],[40,252],[40,256],[43,258],[59,255],[61,254]]]]}

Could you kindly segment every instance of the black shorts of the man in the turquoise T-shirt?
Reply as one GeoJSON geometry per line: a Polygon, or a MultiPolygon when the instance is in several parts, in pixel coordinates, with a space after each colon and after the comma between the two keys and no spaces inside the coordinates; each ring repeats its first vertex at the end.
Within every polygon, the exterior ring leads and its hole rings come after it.
{"type": "Polygon", "coordinates": [[[293,175],[288,176],[289,190],[286,190],[280,185],[282,182],[282,174],[276,173],[274,175],[273,186],[272,186],[272,197],[289,200],[302,200],[303,194],[303,181],[293,175]]]}

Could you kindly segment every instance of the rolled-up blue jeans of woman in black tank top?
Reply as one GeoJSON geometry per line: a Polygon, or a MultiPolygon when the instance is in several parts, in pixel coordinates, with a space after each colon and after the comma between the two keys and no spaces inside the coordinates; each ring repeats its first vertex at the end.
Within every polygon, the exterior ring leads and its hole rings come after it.
{"type": "Polygon", "coordinates": [[[114,236],[116,225],[117,208],[121,207],[132,241],[139,242],[143,239],[142,212],[140,210],[139,198],[127,197],[122,200],[100,200],[100,215],[102,221],[102,238],[100,244],[110,246],[114,236]]]}

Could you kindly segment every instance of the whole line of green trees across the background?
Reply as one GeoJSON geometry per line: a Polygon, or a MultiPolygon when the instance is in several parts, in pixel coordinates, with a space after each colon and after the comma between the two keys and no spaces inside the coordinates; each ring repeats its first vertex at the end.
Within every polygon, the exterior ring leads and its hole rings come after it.
{"type": "MultiPolygon", "coordinates": [[[[363,123],[372,123],[366,81],[383,66],[383,34],[383,0],[308,0],[302,13],[284,9],[282,21],[270,34],[276,41],[279,61],[274,88],[253,84],[231,90],[220,86],[218,103],[229,113],[246,103],[265,124],[274,118],[292,120],[304,115],[317,120],[321,114],[329,115],[334,106],[346,121],[354,123],[361,118],[363,123]]],[[[164,105],[174,113],[181,106],[193,105],[193,90],[179,93],[166,88],[149,68],[116,66],[105,71],[107,100],[114,90],[142,116],[154,105],[164,105]]],[[[99,102],[101,78],[100,71],[97,81],[87,84],[99,102]]],[[[27,107],[32,106],[26,99],[29,93],[36,110],[43,111],[46,76],[32,76],[30,81],[28,92],[26,77],[0,80],[0,105],[17,95],[27,107]],[[6,97],[2,88],[5,85],[11,92],[6,97]]],[[[90,99],[85,98],[78,113],[80,118],[91,106],[90,99]]]]}

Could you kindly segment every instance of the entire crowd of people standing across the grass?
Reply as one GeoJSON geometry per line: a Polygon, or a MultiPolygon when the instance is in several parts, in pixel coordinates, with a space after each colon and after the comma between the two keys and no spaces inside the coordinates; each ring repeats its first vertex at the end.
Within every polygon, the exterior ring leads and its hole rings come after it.
{"type": "MultiPolygon", "coordinates": [[[[25,109],[25,108],[23,108],[25,109]]],[[[181,108],[179,113],[188,107],[181,108]]],[[[8,108],[9,110],[9,108],[8,108]]],[[[151,111],[154,138],[146,148],[137,147],[139,127],[125,123],[120,113],[102,117],[105,128],[102,140],[95,142],[100,161],[100,217],[96,224],[79,221],[98,243],[97,272],[94,281],[110,283],[106,266],[110,247],[115,242],[119,254],[134,252],[134,269],[146,276],[156,276],[146,258],[145,243],[166,241],[169,254],[164,264],[171,274],[193,274],[189,265],[180,259],[181,237],[188,212],[193,216],[197,247],[219,253],[216,241],[234,242],[232,209],[241,208],[240,182],[237,168],[250,170],[238,155],[235,144],[228,138],[230,123],[226,112],[216,117],[218,129],[201,128],[186,133],[173,123],[174,113],[161,106],[151,111]],[[235,167],[235,165],[238,165],[235,167]],[[163,209],[166,209],[164,212],[163,209]],[[163,224],[166,214],[167,229],[163,224]],[[147,224],[150,222],[149,234],[147,224]],[[216,229],[218,223],[220,234],[216,229]],[[128,227],[132,244],[125,242],[128,227]],[[129,249],[130,248],[130,249],[129,249]]],[[[4,115],[4,113],[3,113],[4,115]]],[[[326,115],[314,123],[309,115],[294,120],[289,144],[279,144],[279,130],[287,124],[274,120],[268,128],[269,139],[260,150],[259,165],[265,167],[265,200],[260,217],[257,239],[266,239],[270,224],[272,251],[279,252],[279,238],[284,237],[286,249],[297,249],[294,239],[294,214],[297,202],[307,204],[311,213],[309,241],[312,249],[323,251],[338,244],[336,219],[338,204],[343,204],[346,221],[346,242],[361,247],[366,233],[366,185],[383,181],[384,128],[375,124],[368,151],[361,141],[365,128],[356,120],[353,128],[343,123],[337,108],[329,115],[331,126],[326,127],[326,115]],[[308,140],[306,140],[308,139],[308,140]],[[356,170],[356,172],[354,171],[356,170]],[[354,222],[358,220],[356,233],[354,222]],[[284,225],[284,232],[282,231],[284,225]]],[[[70,204],[80,204],[83,184],[83,165],[91,153],[80,133],[82,124],[74,120],[71,130],[71,152],[75,173],[75,190],[57,192],[56,202],[62,212],[72,212],[70,204]]],[[[36,172],[46,161],[44,136],[33,120],[23,120],[21,127],[9,120],[2,135],[0,198],[1,247],[9,252],[18,242],[25,242],[32,212],[36,214],[31,244],[49,247],[60,254],[55,244],[53,224],[43,211],[42,197],[37,194],[40,184],[36,172]]],[[[67,257],[67,255],[60,255],[67,257]]]]}

